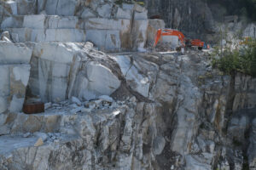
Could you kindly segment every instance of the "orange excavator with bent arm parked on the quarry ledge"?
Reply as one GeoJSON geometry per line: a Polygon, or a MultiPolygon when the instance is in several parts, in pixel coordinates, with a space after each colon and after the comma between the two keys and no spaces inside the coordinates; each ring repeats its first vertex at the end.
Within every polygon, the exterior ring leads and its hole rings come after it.
{"type": "Polygon", "coordinates": [[[177,30],[171,30],[171,29],[159,29],[156,32],[155,38],[154,38],[154,48],[157,45],[157,43],[160,40],[160,37],[163,36],[177,36],[179,41],[181,42],[181,47],[178,47],[177,49],[181,48],[191,48],[191,47],[197,47],[198,49],[203,48],[210,48],[209,45],[207,45],[205,42],[201,42],[199,39],[186,39],[185,36],[181,31],[177,30]]]}

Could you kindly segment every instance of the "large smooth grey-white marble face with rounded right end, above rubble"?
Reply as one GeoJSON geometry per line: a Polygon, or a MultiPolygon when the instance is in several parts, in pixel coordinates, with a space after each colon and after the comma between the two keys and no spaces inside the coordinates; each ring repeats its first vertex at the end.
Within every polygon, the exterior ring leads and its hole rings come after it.
{"type": "MultiPolygon", "coordinates": [[[[44,102],[65,100],[70,90],[79,99],[113,94],[120,86],[119,78],[108,67],[86,60],[87,54],[83,51],[86,48],[81,45],[73,42],[35,44],[29,82],[32,94],[39,95],[44,102]]],[[[91,59],[101,55],[96,51],[91,59]]]]}

